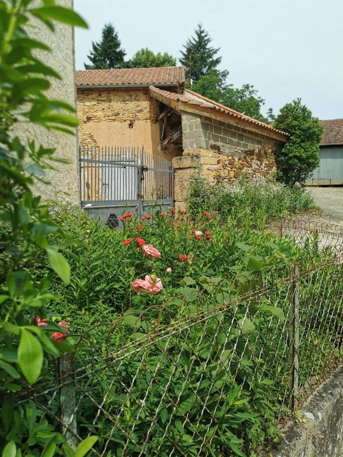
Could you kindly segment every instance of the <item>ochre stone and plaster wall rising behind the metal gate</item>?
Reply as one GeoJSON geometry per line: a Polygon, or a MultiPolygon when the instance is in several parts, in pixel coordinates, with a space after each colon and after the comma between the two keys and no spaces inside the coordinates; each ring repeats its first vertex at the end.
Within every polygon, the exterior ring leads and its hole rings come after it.
{"type": "Polygon", "coordinates": [[[175,146],[159,151],[159,123],[148,89],[78,88],[79,144],[81,146],[144,146],[172,158],[175,146]]]}

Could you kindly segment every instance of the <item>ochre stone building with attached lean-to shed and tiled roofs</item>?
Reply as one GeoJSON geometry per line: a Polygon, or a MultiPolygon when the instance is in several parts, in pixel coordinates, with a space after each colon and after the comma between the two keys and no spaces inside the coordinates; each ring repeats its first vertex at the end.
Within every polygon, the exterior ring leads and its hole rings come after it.
{"type": "Polygon", "coordinates": [[[80,145],[144,145],[173,160],[175,206],[195,175],[272,176],[288,134],[185,89],[183,67],[77,72],[80,145]]]}

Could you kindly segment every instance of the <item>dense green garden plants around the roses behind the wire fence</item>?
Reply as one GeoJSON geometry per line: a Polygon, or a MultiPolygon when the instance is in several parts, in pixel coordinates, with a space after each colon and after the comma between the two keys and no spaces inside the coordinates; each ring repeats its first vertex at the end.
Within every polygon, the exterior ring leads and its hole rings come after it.
{"type": "MultiPolygon", "coordinates": [[[[208,189],[203,195],[207,202],[208,189]]],[[[88,220],[80,210],[54,208],[55,222],[65,227],[71,240],[78,240],[70,246],[71,283],[67,287],[56,278],[51,284],[61,297],[51,309],[65,313],[75,333],[86,331],[76,353],[77,391],[86,392],[77,412],[79,434],[101,430],[96,449],[100,452],[107,445],[109,455],[121,454],[128,435],[130,455],[142,448],[147,455],[169,455],[174,443],[188,455],[199,455],[207,446],[212,455],[254,455],[254,449],[279,436],[276,417],[287,410],[288,305],[279,304],[280,297],[288,296],[289,284],[280,281],[282,288],[271,287],[262,299],[228,305],[225,313],[217,311],[208,320],[191,323],[198,313],[243,292],[262,290],[270,278],[276,283],[289,273],[291,262],[305,269],[324,257],[314,256],[313,242],[306,238],[299,247],[292,238],[280,239],[264,230],[262,217],[259,223],[257,217],[229,217],[221,225],[211,215],[201,213],[190,220],[189,214],[173,211],[161,216],[159,209],[153,208],[151,220],[128,219],[119,232],[88,220]],[[193,230],[203,233],[200,239],[193,230]],[[144,257],[141,248],[137,251],[137,237],[156,247],[161,257],[144,257]],[[123,245],[124,240],[128,244],[123,245]],[[188,260],[180,261],[179,254],[187,254],[188,260]],[[163,288],[157,295],[133,291],[132,281],[145,274],[161,278],[163,288]],[[182,327],[180,321],[187,325],[182,327]],[[171,332],[175,327],[178,330],[171,332]],[[150,334],[144,345],[148,328],[157,330],[158,338],[154,341],[150,334]],[[89,367],[83,367],[90,358],[89,373],[89,367]],[[97,404],[115,418],[115,429],[107,414],[94,423],[97,404]]],[[[55,243],[59,237],[51,235],[55,243]]],[[[328,296],[337,309],[341,283],[325,290],[328,282],[323,280],[316,293],[328,296]]],[[[311,284],[301,290],[306,313],[323,315],[324,300],[317,297],[317,305],[310,306],[311,284]]],[[[331,319],[325,325],[325,341],[333,341],[331,319]]],[[[331,353],[332,344],[316,344],[331,353]]],[[[318,367],[318,352],[308,356],[307,350],[307,345],[301,346],[303,359],[310,357],[311,372],[313,364],[318,367]]]]}

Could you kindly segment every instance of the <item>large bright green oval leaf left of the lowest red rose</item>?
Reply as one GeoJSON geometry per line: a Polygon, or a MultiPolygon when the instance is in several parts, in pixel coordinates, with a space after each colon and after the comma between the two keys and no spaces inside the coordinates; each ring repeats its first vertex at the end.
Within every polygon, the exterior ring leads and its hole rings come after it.
{"type": "Polygon", "coordinates": [[[29,384],[37,381],[43,366],[43,349],[38,339],[25,329],[21,331],[18,364],[29,384]]]}

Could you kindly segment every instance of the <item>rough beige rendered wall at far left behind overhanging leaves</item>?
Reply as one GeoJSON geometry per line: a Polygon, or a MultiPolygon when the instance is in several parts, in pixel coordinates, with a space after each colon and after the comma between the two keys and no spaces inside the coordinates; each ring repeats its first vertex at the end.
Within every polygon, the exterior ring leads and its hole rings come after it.
{"type": "MultiPolygon", "coordinates": [[[[57,4],[68,8],[73,6],[72,0],[58,0],[57,4]]],[[[33,18],[28,34],[51,48],[51,52],[38,50],[36,55],[63,78],[63,81],[51,78],[51,86],[46,95],[76,107],[73,28],[56,23],[55,32],[51,32],[41,21],[33,18]]],[[[37,182],[35,193],[42,195],[43,199],[52,199],[58,195],[64,201],[78,203],[77,132],[75,136],[71,136],[55,130],[46,130],[38,125],[20,123],[16,126],[15,134],[23,142],[35,140],[37,146],[42,144],[45,147],[56,148],[56,157],[70,160],[69,164],[53,162],[56,170],[46,170],[46,178],[51,184],[37,182]]]]}

